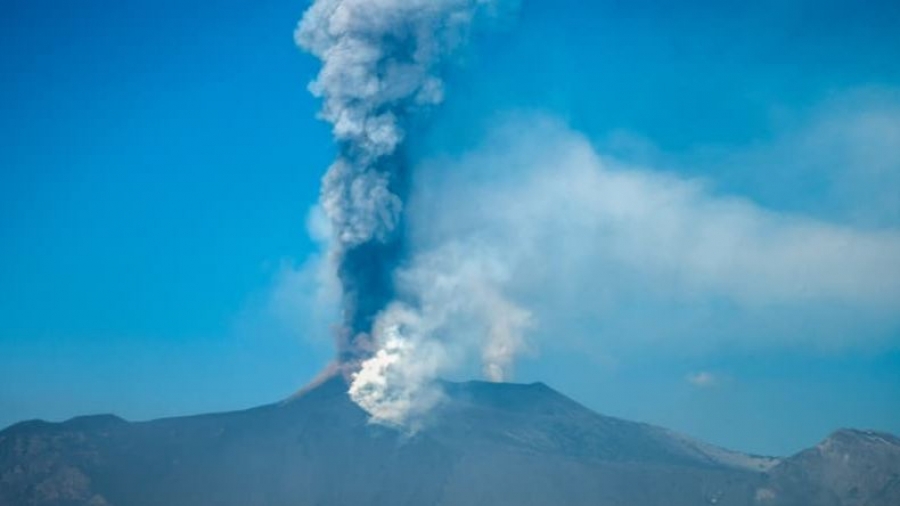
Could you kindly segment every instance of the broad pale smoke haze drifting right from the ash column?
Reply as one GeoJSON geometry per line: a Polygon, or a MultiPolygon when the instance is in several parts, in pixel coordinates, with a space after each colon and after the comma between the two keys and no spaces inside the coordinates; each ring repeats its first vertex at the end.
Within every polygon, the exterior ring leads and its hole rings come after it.
{"type": "Polygon", "coordinates": [[[502,251],[497,289],[533,313],[542,347],[858,348],[900,328],[896,229],[773,212],[604,157],[546,118],[417,174],[414,247],[502,251]]]}

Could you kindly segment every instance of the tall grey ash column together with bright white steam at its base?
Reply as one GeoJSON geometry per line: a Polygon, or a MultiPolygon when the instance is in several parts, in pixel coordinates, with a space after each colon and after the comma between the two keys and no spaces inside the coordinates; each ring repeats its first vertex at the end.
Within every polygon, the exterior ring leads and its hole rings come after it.
{"type": "Polygon", "coordinates": [[[453,360],[453,341],[468,339],[451,321],[475,322],[485,373],[499,380],[530,319],[491,285],[497,269],[452,247],[404,258],[406,130],[443,100],[445,57],[499,1],[316,0],[295,33],[322,61],[310,91],[339,148],[319,202],[342,291],[339,361],[351,397],[379,422],[408,424],[439,399],[432,380],[453,360]]]}

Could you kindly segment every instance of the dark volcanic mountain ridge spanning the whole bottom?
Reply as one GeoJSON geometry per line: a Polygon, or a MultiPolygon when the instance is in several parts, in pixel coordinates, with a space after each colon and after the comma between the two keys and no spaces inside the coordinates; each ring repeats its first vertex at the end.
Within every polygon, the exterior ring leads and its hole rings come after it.
{"type": "Polygon", "coordinates": [[[415,432],[332,378],[246,411],[0,432],[2,506],[900,504],[900,440],[839,431],[787,459],[599,415],[541,383],[445,383],[415,432]]]}

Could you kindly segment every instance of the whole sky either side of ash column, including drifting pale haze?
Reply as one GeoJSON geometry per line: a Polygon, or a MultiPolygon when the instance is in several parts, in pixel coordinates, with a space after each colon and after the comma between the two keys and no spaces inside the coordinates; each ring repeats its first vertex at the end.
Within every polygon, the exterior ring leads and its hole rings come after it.
{"type": "MultiPolygon", "coordinates": [[[[0,426],[249,407],[327,362],[305,7],[4,4],[0,426]]],[[[542,320],[517,379],[759,453],[900,432],[900,4],[523,0],[502,25],[412,135],[414,227],[546,266],[511,286],[542,320]]]]}

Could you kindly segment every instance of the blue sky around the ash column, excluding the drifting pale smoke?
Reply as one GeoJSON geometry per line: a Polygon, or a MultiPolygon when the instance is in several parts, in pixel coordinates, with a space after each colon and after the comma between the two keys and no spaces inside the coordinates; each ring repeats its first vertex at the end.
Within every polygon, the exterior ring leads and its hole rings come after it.
{"type": "MultiPolygon", "coordinates": [[[[304,8],[7,2],[0,425],[247,407],[288,395],[328,360],[320,326],[271,309],[284,273],[317,251],[307,212],[334,154],[305,90],[317,62],[291,39],[304,8]]],[[[898,23],[896,2],[524,0],[455,62],[416,156],[483,150],[509,114],[552,116],[601,154],[702,178],[713,195],[893,233],[898,23]]],[[[695,314],[681,307],[690,300],[636,292],[634,321],[695,314]]],[[[895,302],[871,318],[827,304],[787,305],[781,319],[732,309],[769,330],[686,318],[673,339],[742,336],[674,351],[609,337],[637,328],[625,317],[547,325],[605,352],[544,337],[519,379],[756,452],[790,452],[839,426],[896,433],[895,302]],[[823,330],[796,320],[829,312],[853,339],[809,346],[823,330]],[[765,332],[775,337],[753,337],[765,332]]]]}

